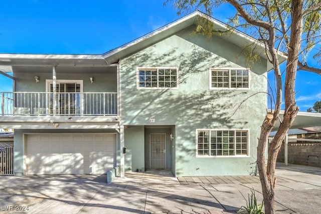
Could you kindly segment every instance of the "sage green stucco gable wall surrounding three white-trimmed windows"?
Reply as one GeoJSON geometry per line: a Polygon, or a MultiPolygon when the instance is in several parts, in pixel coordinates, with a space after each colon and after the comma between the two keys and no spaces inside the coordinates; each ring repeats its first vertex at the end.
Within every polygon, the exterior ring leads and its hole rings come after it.
{"type": "Polygon", "coordinates": [[[172,170],[176,176],[251,174],[266,113],[266,60],[251,68],[250,89],[210,90],[210,68],[247,67],[246,56],[242,48],[218,37],[191,37],[192,30],[121,60],[121,123],[175,125],[172,170]],[[137,67],[178,67],[179,88],[137,89],[137,67]],[[155,123],[150,124],[150,118],[155,123]],[[249,129],[249,156],[196,157],[196,129],[210,128],[249,129]]]}

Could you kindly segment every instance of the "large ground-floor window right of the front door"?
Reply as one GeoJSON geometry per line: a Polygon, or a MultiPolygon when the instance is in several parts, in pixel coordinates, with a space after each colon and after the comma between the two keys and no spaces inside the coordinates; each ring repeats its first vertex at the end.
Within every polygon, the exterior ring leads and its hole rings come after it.
{"type": "Polygon", "coordinates": [[[248,155],[248,130],[197,130],[197,156],[248,155]]]}

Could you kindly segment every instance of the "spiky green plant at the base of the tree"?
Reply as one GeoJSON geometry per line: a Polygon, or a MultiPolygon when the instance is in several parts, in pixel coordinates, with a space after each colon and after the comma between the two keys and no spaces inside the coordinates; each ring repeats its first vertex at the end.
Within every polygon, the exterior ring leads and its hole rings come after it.
{"type": "Polygon", "coordinates": [[[251,195],[248,194],[248,200],[245,199],[245,201],[246,201],[246,206],[241,206],[241,208],[237,213],[240,213],[240,214],[263,214],[264,213],[263,201],[260,204],[257,202],[254,188],[251,188],[251,195]]]}

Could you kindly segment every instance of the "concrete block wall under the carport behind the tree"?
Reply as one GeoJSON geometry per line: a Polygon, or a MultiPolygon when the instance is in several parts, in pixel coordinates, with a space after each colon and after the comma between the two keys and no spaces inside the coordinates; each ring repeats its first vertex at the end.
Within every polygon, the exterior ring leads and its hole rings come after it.
{"type": "MultiPolygon", "coordinates": [[[[284,143],[277,162],[284,162],[284,143]]],[[[321,143],[288,143],[288,163],[321,167],[321,143]]]]}

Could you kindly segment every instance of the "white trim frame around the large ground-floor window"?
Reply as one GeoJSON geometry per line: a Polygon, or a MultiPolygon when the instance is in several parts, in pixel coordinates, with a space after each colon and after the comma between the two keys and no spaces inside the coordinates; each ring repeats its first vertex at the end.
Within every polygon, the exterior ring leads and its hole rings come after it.
{"type": "Polygon", "coordinates": [[[195,131],[195,153],[197,158],[248,158],[250,157],[250,129],[196,129],[195,131]],[[199,155],[198,154],[198,132],[202,131],[247,131],[248,142],[247,142],[247,155],[199,155]]]}

